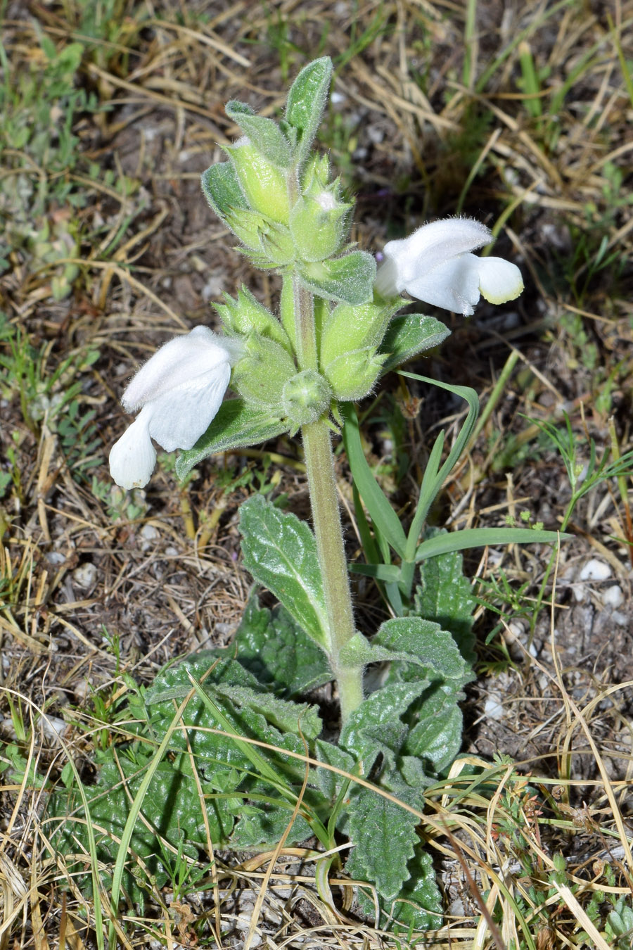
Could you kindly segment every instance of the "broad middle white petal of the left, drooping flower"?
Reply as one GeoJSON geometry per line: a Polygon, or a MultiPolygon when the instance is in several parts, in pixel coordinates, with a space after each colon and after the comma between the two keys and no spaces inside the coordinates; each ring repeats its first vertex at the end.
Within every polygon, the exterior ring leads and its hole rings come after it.
{"type": "Polygon", "coordinates": [[[158,396],[150,404],[149,434],[168,452],[195,446],[213,422],[230,377],[231,367],[221,363],[158,396]]]}

